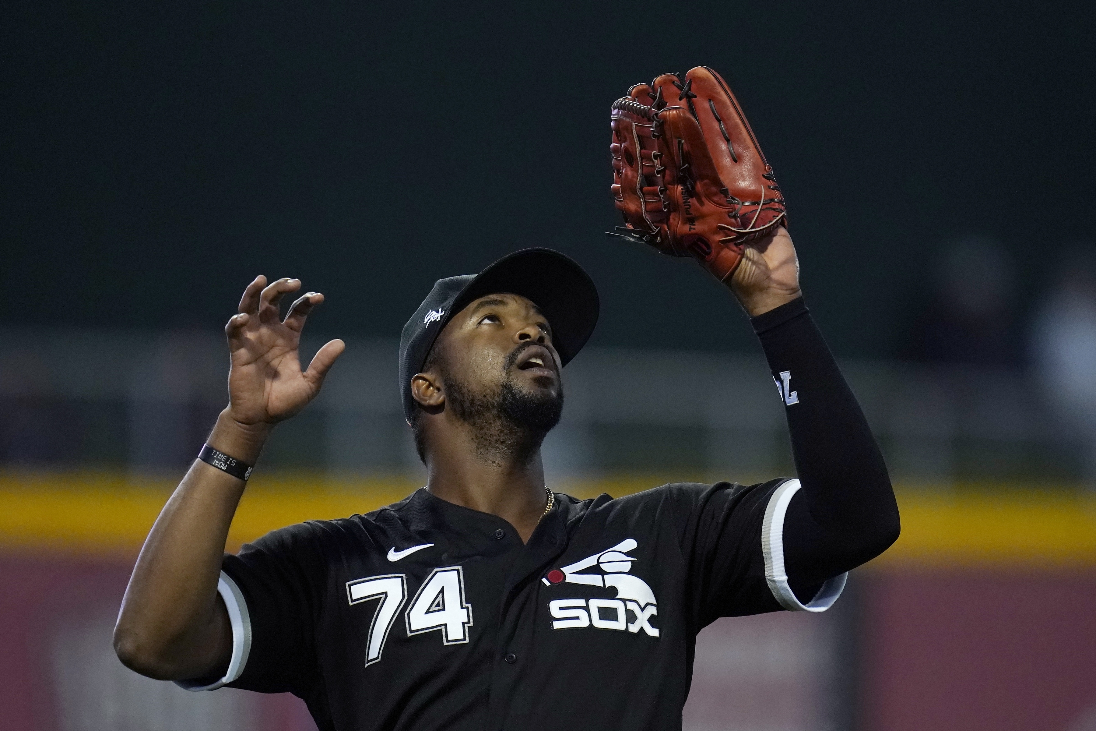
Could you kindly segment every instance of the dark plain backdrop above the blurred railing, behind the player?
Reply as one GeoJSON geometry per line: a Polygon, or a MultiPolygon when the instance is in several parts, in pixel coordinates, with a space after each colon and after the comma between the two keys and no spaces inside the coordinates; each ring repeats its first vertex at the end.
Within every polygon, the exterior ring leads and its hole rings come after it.
{"type": "Polygon", "coordinates": [[[434,279],[545,244],[603,293],[594,344],[751,347],[695,266],[602,233],[617,224],[609,103],[697,65],[745,105],[842,355],[907,352],[910,311],[957,237],[1014,260],[1021,311],[1089,237],[1091,3],[4,14],[10,323],[213,328],[265,273],[329,296],[317,330],[396,336],[434,279]]]}

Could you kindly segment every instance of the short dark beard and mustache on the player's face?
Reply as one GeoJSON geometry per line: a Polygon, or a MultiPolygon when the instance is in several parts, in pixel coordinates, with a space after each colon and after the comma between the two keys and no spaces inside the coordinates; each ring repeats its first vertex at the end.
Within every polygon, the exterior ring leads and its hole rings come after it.
{"type": "Polygon", "coordinates": [[[476,434],[476,453],[492,461],[527,461],[563,414],[563,387],[527,391],[513,378],[513,365],[525,349],[518,346],[503,365],[499,385],[473,392],[456,379],[445,380],[445,401],[476,434]]]}

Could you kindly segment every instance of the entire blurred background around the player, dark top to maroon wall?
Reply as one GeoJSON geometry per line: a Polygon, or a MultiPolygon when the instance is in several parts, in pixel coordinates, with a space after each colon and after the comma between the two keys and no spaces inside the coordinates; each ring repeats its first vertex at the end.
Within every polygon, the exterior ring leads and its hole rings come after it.
{"type": "Polygon", "coordinates": [[[602,293],[553,488],[791,473],[744,315],[604,236],[609,104],[706,65],[786,193],[903,534],[821,617],[720,620],[688,731],[1096,731],[1092,3],[42,3],[0,10],[0,728],[304,731],[110,631],[225,403],[259,273],[349,350],[230,536],[421,484],[396,339],[438,277],[548,245],[602,293]]]}

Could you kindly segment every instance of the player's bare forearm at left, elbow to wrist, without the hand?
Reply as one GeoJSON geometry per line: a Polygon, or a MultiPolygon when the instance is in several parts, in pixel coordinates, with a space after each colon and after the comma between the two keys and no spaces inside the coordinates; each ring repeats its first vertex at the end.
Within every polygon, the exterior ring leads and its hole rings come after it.
{"type": "MultiPolygon", "coordinates": [[[[226,414],[209,444],[254,464],[265,433],[226,414]]],[[[244,482],[195,460],[141,548],[114,631],[119,659],[160,679],[202,677],[227,661],[231,632],[217,595],[221,557],[244,482]]]]}

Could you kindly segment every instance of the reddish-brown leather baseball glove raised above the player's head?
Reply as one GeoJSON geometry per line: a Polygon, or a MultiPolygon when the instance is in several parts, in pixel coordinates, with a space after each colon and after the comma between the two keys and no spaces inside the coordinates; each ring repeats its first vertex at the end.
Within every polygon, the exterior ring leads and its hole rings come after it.
{"type": "Polygon", "coordinates": [[[613,102],[620,238],[694,256],[720,282],[747,241],[786,226],[784,196],[727,82],[706,66],[613,102]]]}

